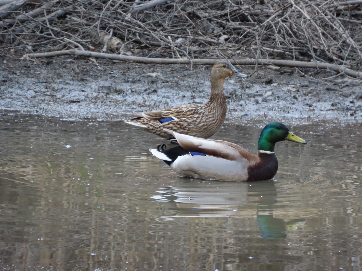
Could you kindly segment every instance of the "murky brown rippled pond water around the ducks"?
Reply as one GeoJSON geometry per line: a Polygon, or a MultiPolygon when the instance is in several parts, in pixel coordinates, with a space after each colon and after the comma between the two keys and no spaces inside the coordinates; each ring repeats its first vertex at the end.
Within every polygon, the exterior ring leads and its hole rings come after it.
{"type": "MultiPolygon", "coordinates": [[[[122,122],[0,116],[1,270],[361,270],[362,125],[290,126],[271,181],[179,178],[122,122]]],[[[265,123],[215,138],[256,152],[265,123]]]]}

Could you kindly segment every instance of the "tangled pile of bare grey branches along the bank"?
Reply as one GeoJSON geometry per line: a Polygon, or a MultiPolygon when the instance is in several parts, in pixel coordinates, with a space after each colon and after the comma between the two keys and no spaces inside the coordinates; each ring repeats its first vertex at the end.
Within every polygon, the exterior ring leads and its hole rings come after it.
{"type": "Polygon", "coordinates": [[[248,56],[362,70],[362,0],[0,0],[0,19],[3,52],[248,56]]]}

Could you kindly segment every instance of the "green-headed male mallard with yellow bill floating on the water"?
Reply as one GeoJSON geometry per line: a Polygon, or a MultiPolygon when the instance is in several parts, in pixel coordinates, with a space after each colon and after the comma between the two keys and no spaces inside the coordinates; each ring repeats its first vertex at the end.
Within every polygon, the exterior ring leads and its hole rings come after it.
{"type": "Polygon", "coordinates": [[[278,170],[275,143],[290,140],[306,144],[287,126],[272,122],[261,131],[258,154],[222,140],[203,139],[168,130],[180,146],[166,150],[165,145],[150,149],[174,171],[184,176],[220,181],[260,181],[273,178],[278,170]]]}

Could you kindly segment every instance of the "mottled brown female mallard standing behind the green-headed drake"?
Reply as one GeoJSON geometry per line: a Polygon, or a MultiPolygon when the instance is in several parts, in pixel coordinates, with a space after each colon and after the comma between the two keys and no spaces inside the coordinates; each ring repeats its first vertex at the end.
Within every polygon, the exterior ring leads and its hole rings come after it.
{"type": "Polygon", "coordinates": [[[226,99],[223,89],[228,76],[248,77],[237,72],[230,62],[219,61],[211,69],[211,95],[206,103],[190,103],[159,111],[140,112],[125,122],[163,138],[173,138],[165,129],[195,137],[211,137],[218,132],[225,120],[226,99]]]}

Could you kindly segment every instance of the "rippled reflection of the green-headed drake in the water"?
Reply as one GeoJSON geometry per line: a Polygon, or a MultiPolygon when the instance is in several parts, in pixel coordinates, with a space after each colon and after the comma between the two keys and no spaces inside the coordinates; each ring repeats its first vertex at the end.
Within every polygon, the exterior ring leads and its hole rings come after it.
{"type": "MultiPolygon", "coordinates": [[[[174,203],[166,206],[167,217],[233,217],[254,216],[251,206],[256,204],[256,218],[263,238],[285,238],[304,224],[304,219],[285,220],[274,217],[277,188],[273,180],[252,183],[181,181],[177,186],[160,188],[153,200],[174,203]],[[176,212],[175,212],[176,210],[176,212]]],[[[287,206],[278,205],[278,209],[287,206]]]]}

